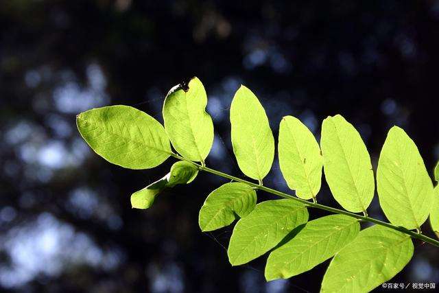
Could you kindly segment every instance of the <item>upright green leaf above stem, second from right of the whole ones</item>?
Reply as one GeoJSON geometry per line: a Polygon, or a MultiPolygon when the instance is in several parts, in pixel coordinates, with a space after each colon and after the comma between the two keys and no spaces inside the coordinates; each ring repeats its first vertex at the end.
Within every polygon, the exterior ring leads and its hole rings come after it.
{"type": "Polygon", "coordinates": [[[366,145],[352,124],[341,115],[327,117],[322,125],[324,175],[342,207],[358,213],[372,201],[375,180],[366,145]]]}

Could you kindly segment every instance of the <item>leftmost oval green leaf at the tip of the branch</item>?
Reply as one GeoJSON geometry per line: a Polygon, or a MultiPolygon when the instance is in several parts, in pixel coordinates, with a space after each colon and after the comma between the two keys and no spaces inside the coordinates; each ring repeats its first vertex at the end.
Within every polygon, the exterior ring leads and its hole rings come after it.
{"type": "Polygon", "coordinates": [[[165,129],[130,106],[95,108],[76,117],[82,137],[99,156],[129,169],[149,169],[171,154],[165,129]]]}

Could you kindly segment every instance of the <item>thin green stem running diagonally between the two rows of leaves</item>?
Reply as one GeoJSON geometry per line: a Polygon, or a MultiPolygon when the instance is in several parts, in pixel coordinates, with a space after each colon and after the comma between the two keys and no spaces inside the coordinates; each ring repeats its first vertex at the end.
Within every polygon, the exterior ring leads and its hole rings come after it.
{"type": "Polygon", "coordinates": [[[276,196],[280,196],[281,198],[289,198],[291,200],[296,200],[298,202],[302,202],[302,204],[305,204],[307,207],[312,207],[312,208],[315,208],[315,209],[323,209],[324,211],[330,211],[331,213],[339,213],[341,215],[348,215],[349,217],[357,218],[357,219],[363,220],[365,222],[371,222],[371,223],[374,223],[374,224],[385,226],[387,228],[391,228],[393,230],[400,231],[402,233],[410,235],[413,238],[419,239],[419,240],[421,240],[423,242],[427,242],[427,243],[429,243],[431,245],[439,247],[439,241],[438,240],[430,238],[430,237],[428,237],[426,235],[423,235],[422,233],[416,233],[415,231],[408,230],[407,228],[403,228],[403,227],[400,227],[400,226],[394,226],[394,225],[392,225],[392,224],[390,224],[388,222],[383,222],[383,221],[380,221],[380,220],[377,220],[377,219],[374,219],[374,218],[370,218],[370,217],[368,217],[366,215],[357,215],[356,213],[351,213],[349,211],[344,211],[342,209],[335,209],[333,207],[328,207],[328,206],[325,206],[323,204],[318,204],[316,202],[309,202],[307,200],[302,200],[301,198],[296,198],[295,196],[292,196],[290,194],[285,194],[285,193],[283,193],[281,191],[277,191],[275,189],[271,189],[269,187],[265,187],[265,186],[259,185],[257,183],[252,183],[250,181],[247,181],[247,180],[244,180],[244,179],[241,179],[241,178],[238,178],[238,177],[235,177],[235,176],[232,176],[232,175],[229,175],[229,174],[217,171],[215,169],[211,169],[209,167],[199,165],[197,163],[194,163],[193,161],[189,161],[189,160],[183,158],[182,156],[178,156],[178,154],[172,154],[172,156],[174,156],[176,159],[179,159],[179,160],[182,160],[182,161],[187,161],[189,163],[193,163],[194,165],[198,166],[198,169],[200,169],[200,170],[202,170],[204,172],[209,172],[211,174],[215,174],[217,176],[228,178],[228,179],[234,180],[236,182],[246,183],[246,184],[250,185],[251,187],[253,187],[254,189],[260,189],[260,190],[266,191],[266,192],[268,192],[270,194],[274,194],[276,196]]]}

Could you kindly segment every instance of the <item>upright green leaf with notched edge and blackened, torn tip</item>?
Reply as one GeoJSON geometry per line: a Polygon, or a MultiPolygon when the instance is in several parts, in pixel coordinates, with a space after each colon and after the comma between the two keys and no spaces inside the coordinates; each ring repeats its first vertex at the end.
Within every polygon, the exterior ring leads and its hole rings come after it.
{"type": "Polygon", "coordinates": [[[189,89],[174,86],[163,104],[165,129],[172,145],[191,161],[204,162],[213,143],[213,122],[206,113],[207,96],[198,78],[192,78],[189,89]]]}

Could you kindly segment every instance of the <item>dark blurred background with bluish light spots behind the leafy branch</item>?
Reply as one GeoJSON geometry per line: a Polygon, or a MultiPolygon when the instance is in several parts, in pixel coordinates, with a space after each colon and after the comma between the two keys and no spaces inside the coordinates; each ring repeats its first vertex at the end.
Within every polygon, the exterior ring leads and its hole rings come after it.
{"type": "MultiPolygon", "coordinates": [[[[376,167],[396,124],[431,171],[439,158],[438,52],[439,1],[0,1],[1,290],[318,291],[328,262],[265,283],[266,256],[228,264],[232,226],[200,232],[198,210],[221,178],[200,174],[151,209],[131,209],[130,194],[173,161],[141,171],[110,165],[82,141],[75,115],[126,104],[163,121],[167,91],[197,75],[216,130],[210,167],[242,176],[228,109],[245,84],[275,137],[283,115],[299,117],[319,139],[322,119],[340,113],[376,167]]],[[[264,183],[288,191],[276,162],[264,183]]],[[[339,207],[328,191],[324,183],[319,201],[339,207]]],[[[384,219],[377,196],[369,213],[384,219]]],[[[431,235],[427,223],[423,230],[431,235]]],[[[438,286],[438,249],[414,244],[393,280],[438,286]]]]}

